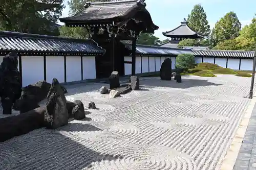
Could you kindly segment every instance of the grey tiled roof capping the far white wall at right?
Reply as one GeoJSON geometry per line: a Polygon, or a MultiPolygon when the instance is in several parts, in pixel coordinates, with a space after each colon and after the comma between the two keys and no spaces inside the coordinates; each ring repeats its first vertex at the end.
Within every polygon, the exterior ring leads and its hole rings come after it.
{"type": "Polygon", "coordinates": [[[195,56],[223,58],[253,58],[254,51],[193,50],[195,56]]]}

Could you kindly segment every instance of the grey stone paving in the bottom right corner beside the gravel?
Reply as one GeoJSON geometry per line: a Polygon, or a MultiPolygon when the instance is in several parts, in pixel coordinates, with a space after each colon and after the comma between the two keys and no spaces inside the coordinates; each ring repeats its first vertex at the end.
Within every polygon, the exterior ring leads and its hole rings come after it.
{"type": "Polygon", "coordinates": [[[256,170],[256,104],[233,170],[256,170]]]}

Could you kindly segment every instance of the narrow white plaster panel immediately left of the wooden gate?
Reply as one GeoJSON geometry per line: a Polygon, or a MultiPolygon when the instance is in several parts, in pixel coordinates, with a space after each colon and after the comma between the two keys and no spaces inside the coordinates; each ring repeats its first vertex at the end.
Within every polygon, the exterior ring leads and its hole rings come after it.
{"type": "Polygon", "coordinates": [[[96,63],[94,56],[82,57],[82,79],[96,79],[96,63]]]}

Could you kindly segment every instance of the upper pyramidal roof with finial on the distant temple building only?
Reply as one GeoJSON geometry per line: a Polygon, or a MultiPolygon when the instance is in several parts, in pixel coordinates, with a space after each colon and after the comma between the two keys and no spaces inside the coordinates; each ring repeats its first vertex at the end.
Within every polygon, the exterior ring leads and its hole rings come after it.
{"type": "Polygon", "coordinates": [[[187,21],[181,22],[181,25],[171,31],[163,32],[163,35],[170,38],[202,38],[203,35],[195,32],[187,25],[187,21]]]}

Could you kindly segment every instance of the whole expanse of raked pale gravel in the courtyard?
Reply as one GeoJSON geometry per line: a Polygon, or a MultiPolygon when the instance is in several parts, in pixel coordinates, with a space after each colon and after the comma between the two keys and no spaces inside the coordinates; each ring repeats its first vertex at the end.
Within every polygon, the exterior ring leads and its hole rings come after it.
{"type": "MultiPolygon", "coordinates": [[[[244,98],[251,78],[182,76],[182,81],[140,78],[139,91],[114,99],[99,92],[108,84],[67,85],[67,100],[85,106],[92,101],[97,109],[57,130],[41,128],[0,143],[0,169],[232,169],[237,158],[226,153],[234,139],[241,143],[244,137],[248,123],[241,120],[249,119],[252,109],[247,110],[254,106],[244,98]]],[[[240,145],[231,155],[241,156],[240,145]]],[[[248,167],[250,157],[235,167],[248,167]]]]}

